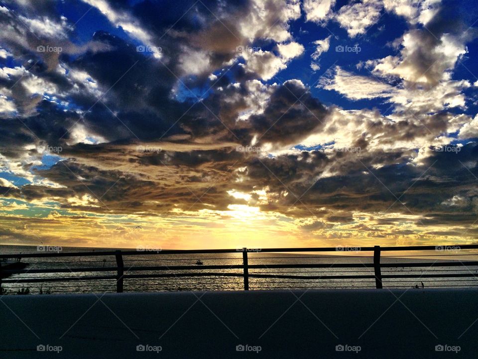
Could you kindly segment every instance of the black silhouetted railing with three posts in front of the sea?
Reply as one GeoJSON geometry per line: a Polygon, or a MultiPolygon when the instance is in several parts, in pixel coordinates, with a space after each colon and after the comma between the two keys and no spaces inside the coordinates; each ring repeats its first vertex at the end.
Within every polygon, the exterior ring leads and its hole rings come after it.
{"type": "MultiPolygon", "coordinates": [[[[469,257],[478,256],[478,253],[464,254],[464,251],[477,250],[478,245],[454,245],[454,246],[400,246],[400,247],[319,247],[319,248],[261,248],[261,249],[202,249],[202,250],[155,250],[155,251],[140,251],[140,250],[116,250],[116,251],[93,251],[93,252],[49,252],[49,253],[24,253],[24,254],[3,254],[0,255],[0,287],[8,287],[9,285],[16,285],[19,283],[63,283],[55,292],[72,292],[79,291],[79,288],[89,288],[93,291],[94,288],[103,288],[103,281],[113,281],[116,292],[123,292],[123,289],[129,288],[128,283],[125,285],[125,280],[143,280],[148,281],[147,284],[130,284],[130,289],[137,289],[135,286],[140,286],[144,290],[149,287],[153,288],[159,285],[156,281],[166,278],[176,278],[177,280],[195,279],[201,277],[214,278],[210,279],[209,284],[215,284],[216,289],[279,289],[279,288],[382,288],[384,284],[392,288],[395,287],[410,287],[407,279],[414,279],[420,281],[420,285],[415,284],[415,288],[427,287],[444,287],[441,283],[446,283],[445,287],[472,287],[478,286],[477,273],[478,261],[469,260],[469,257]],[[416,254],[417,252],[429,252],[433,254],[416,254]],[[262,256],[259,254],[276,253],[330,253],[336,252],[330,256],[262,256]],[[338,253],[337,253],[338,252],[338,253]],[[365,253],[370,255],[366,256],[365,253]],[[383,255],[383,252],[399,253],[395,255],[383,255]],[[405,252],[405,253],[404,253],[405,252]],[[188,265],[165,265],[165,261],[192,261],[196,258],[183,258],[181,255],[200,255],[200,254],[231,254],[237,253],[238,257],[215,258],[206,257],[198,259],[195,264],[188,265]],[[252,253],[252,254],[251,254],[252,253]],[[337,255],[341,254],[341,255],[337,255]],[[356,255],[351,255],[356,254],[356,255]],[[154,259],[147,259],[149,255],[156,255],[154,259]],[[141,257],[137,259],[136,257],[141,257]],[[459,257],[461,256],[461,257],[459,257]],[[65,257],[69,260],[65,261],[65,257]],[[103,258],[102,260],[73,260],[74,258],[93,257],[103,258]],[[114,260],[107,260],[107,257],[115,258],[114,260]],[[130,257],[133,257],[132,259],[130,257]],[[168,257],[168,258],[165,258],[168,257]],[[405,257],[408,261],[401,261],[399,258],[405,257]],[[433,257],[431,259],[415,259],[416,257],[433,257]],[[447,258],[447,260],[443,260],[447,258]],[[450,257],[455,259],[450,260],[450,257]],[[23,263],[23,260],[34,260],[28,263],[27,267],[14,266],[12,261],[5,261],[5,259],[15,258],[16,262],[23,263]],[[49,259],[63,259],[63,261],[48,261],[49,259]],[[71,259],[70,259],[71,258],[71,259]],[[336,258],[334,263],[325,263],[322,258],[336,258]],[[337,263],[339,260],[356,259],[351,263],[337,263]],[[383,263],[381,259],[393,258],[398,262],[383,263]],[[456,259],[463,258],[463,259],[456,259]],[[241,264],[203,264],[202,260],[215,261],[227,260],[240,261],[241,264]],[[272,259],[280,259],[282,262],[287,262],[293,259],[295,263],[249,263],[256,260],[271,261],[272,259]],[[307,261],[309,263],[306,263],[307,261]],[[361,259],[372,260],[364,263],[361,259]],[[39,262],[38,260],[47,260],[46,262],[39,262]],[[302,262],[301,262],[302,260],[302,262]],[[315,263],[314,260],[319,260],[315,263]],[[425,261],[423,261],[425,260],[425,261]],[[133,262],[130,263],[125,262],[133,262]],[[154,264],[161,265],[137,265],[142,262],[156,262],[154,264]],[[103,266],[100,266],[102,263],[103,266]],[[108,264],[107,264],[108,263],[108,264]],[[91,266],[90,266],[91,265],[91,266]],[[108,266],[107,266],[108,265],[108,266]],[[41,268],[35,268],[41,267],[41,268]],[[306,270],[303,270],[306,269],[306,270]],[[238,270],[238,271],[236,271],[238,270]],[[240,271],[239,271],[240,270],[240,271]],[[262,271],[261,271],[262,270],[262,271]],[[265,270],[265,271],[264,271],[265,270]],[[68,273],[68,275],[65,275],[68,273]],[[79,275],[77,275],[77,273],[79,275]],[[63,275],[60,275],[63,274],[63,275]],[[221,282],[224,285],[217,285],[220,280],[234,278],[241,279],[241,282],[221,282]],[[445,278],[446,281],[440,279],[445,278]],[[462,279],[459,279],[462,278],[462,279]],[[471,278],[471,279],[470,279],[471,278]],[[265,279],[264,287],[258,279],[265,279]],[[288,281],[287,281],[288,280],[288,281]],[[253,286],[249,286],[249,282],[253,281],[253,286]],[[82,282],[77,285],[67,285],[68,282],[82,282]],[[83,282],[86,282],[83,283],[83,282]],[[463,282],[464,284],[461,284],[463,282]],[[240,283],[240,287],[239,287],[240,283]],[[275,285],[274,283],[279,283],[275,285]],[[330,286],[324,285],[330,284],[330,286]],[[339,286],[332,285],[339,283],[339,286]],[[398,283],[398,284],[393,284],[398,283]],[[460,284],[457,284],[460,283],[460,284]],[[308,284],[319,284],[319,286],[307,286],[308,284]],[[340,286],[342,284],[342,286],[340,286]],[[346,284],[346,285],[344,285],[346,284]],[[362,285],[364,284],[364,285],[362,285]],[[401,284],[406,284],[402,286],[401,284]],[[452,284],[452,285],[450,285],[452,284]],[[293,285],[296,285],[294,287],[293,285]],[[64,288],[77,288],[76,290],[64,290],[64,288]]],[[[26,265],[26,264],[25,264],[26,265]]],[[[188,285],[188,282],[178,282],[188,285]]],[[[191,285],[193,282],[189,282],[191,285]]],[[[413,282],[415,283],[415,282],[413,282]]],[[[413,284],[412,283],[412,284],[413,284]]],[[[160,284],[165,284],[161,282],[160,284]]],[[[199,282],[193,284],[200,286],[199,282]]],[[[43,291],[43,287],[40,292],[43,291]]],[[[413,285],[412,285],[413,287],[413,285]]],[[[182,287],[178,287],[181,290],[182,287]]],[[[104,288],[103,288],[104,289],[104,288]]],[[[177,288],[176,288],[177,289],[177,288]]],[[[101,290],[100,290],[101,291],[101,290]]]]}

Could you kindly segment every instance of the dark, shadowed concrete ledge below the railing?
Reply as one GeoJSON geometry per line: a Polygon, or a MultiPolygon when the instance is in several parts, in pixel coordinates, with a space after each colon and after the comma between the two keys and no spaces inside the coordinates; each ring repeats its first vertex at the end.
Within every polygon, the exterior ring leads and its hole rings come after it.
{"type": "Polygon", "coordinates": [[[478,358],[475,289],[4,296],[1,302],[0,358],[478,358]],[[37,352],[39,345],[62,351],[37,352]],[[161,351],[138,352],[138,345],[161,351]],[[238,352],[238,345],[260,352],[238,352]],[[338,345],[349,351],[336,351],[338,345]],[[450,347],[437,352],[438,345],[450,347]],[[450,352],[457,346],[458,354],[450,352]]]}

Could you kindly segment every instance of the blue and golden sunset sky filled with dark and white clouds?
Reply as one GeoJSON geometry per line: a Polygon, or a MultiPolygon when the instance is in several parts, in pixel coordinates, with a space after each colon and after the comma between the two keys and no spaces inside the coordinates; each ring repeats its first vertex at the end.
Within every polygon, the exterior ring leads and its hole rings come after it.
{"type": "Polygon", "coordinates": [[[0,1],[0,244],[477,243],[478,5],[0,1]]]}

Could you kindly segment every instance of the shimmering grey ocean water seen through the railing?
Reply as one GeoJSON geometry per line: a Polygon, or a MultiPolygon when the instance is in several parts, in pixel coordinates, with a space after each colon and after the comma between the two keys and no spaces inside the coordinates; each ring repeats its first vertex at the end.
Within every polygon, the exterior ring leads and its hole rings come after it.
{"type": "MultiPolygon", "coordinates": [[[[89,251],[111,251],[111,248],[84,248],[84,247],[63,247],[62,252],[89,252],[89,251]]],[[[125,249],[128,250],[128,249],[125,249]]],[[[131,249],[129,249],[131,250],[131,249]]],[[[38,253],[35,246],[8,246],[0,245],[0,254],[38,253]]],[[[357,252],[356,252],[357,253],[357,252]]],[[[352,254],[356,254],[352,253],[352,254]]],[[[359,254],[359,253],[358,253],[359,254]]],[[[385,254],[385,253],[382,253],[385,254]]],[[[463,254],[462,254],[463,255],[463,254]]],[[[445,257],[443,259],[435,256],[421,257],[382,257],[381,263],[407,264],[424,263],[422,267],[407,267],[397,265],[396,267],[382,268],[382,275],[416,275],[417,278],[385,278],[384,288],[440,288],[440,287],[473,287],[477,286],[478,267],[467,265],[467,261],[474,259],[474,256],[463,255],[464,257],[445,257]],[[441,261],[461,261],[463,265],[457,267],[434,266],[431,263],[441,261]],[[469,277],[460,278],[427,278],[429,274],[465,274],[469,277]]],[[[197,269],[196,261],[200,260],[204,265],[233,266],[242,264],[242,253],[211,253],[211,254],[148,254],[123,256],[125,274],[158,274],[168,273],[173,275],[168,278],[125,278],[124,292],[156,292],[156,291],[213,291],[213,290],[242,290],[242,277],[181,277],[180,273],[238,273],[242,269],[197,269]],[[161,270],[161,271],[128,271],[131,267],[138,266],[184,266],[191,265],[192,270],[161,270]]],[[[86,277],[116,275],[116,271],[98,272],[73,272],[73,268],[108,268],[116,267],[114,256],[84,256],[84,257],[50,257],[50,258],[23,258],[22,262],[27,263],[26,270],[32,269],[64,269],[65,273],[20,273],[13,274],[4,280],[17,281],[27,278],[58,278],[58,277],[86,277]]],[[[249,252],[248,264],[330,264],[326,268],[250,268],[249,275],[267,274],[271,278],[249,278],[250,290],[272,290],[272,289],[354,289],[354,288],[375,288],[375,279],[331,279],[328,276],[337,275],[373,275],[373,268],[334,268],[337,263],[344,264],[366,264],[373,263],[372,257],[363,255],[338,256],[323,252],[321,254],[311,253],[262,253],[249,252]],[[320,276],[320,279],[291,279],[281,278],[283,275],[297,276],[320,276]]],[[[2,289],[7,294],[15,294],[23,288],[28,288],[30,294],[66,294],[66,293],[109,293],[116,292],[116,280],[92,280],[81,278],[81,281],[62,281],[45,283],[6,283],[3,280],[2,289]]]]}

